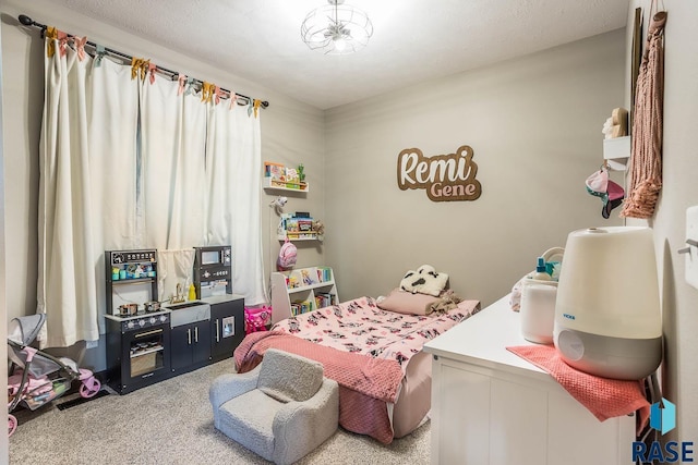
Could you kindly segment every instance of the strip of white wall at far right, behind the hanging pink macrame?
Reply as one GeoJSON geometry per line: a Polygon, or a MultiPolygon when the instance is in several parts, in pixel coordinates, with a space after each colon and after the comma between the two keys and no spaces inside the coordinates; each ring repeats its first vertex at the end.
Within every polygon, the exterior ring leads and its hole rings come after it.
{"type": "MultiPolygon", "coordinates": [[[[664,62],[663,188],[653,220],[655,249],[662,281],[664,321],[664,397],[676,404],[677,428],[671,436],[679,441],[698,441],[698,290],[686,284],[684,258],[676,250],[685,246],[686,208],[698,205],[698,3],[665,0],[667,12],[664,62]]],[[[645,33],[650,22],[650,1],[633,0],[641,8],[645,33]]],[[[631,27],[628,27],[630,44],[631,27]]],[[[628,47],[629,52],[629,47],[628,47]]],[[[629,64],[626,71],[629,76],[629,64]]],[[[629,77],[628,77],[629,81],[629,77]]],[[[630,89],[626,89],[629,102],[630,89]]],[[[634,223],[642,223],[635,220],[634,223]]]]}

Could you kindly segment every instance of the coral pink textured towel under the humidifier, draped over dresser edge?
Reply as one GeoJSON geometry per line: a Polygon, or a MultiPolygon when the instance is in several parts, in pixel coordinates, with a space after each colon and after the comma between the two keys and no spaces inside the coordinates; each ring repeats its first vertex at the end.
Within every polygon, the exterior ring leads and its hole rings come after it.
{"type": "Polygon", "coordinates": [[[643,381],[622,381],[600,378],[567,365],[552,345],[519,345],[506,347],[550,374],[599,421],[640,411],[640,431],[647,425],[650,403],[645,397],[643,381]]]}

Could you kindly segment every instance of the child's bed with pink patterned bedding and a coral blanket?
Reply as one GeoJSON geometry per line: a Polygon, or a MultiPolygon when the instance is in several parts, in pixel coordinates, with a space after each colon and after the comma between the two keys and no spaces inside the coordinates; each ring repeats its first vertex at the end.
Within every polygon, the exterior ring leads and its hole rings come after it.
{"type": "MultiPolygon", "coordinates": [[[[394,293],[400,303],[423,299],[394,293]]],[[[269,347],[321,362],[325,376],[339,383],[342,428],[387,444],[413,431],[429,413],[431,358],[422,352],[424,343],[479,311],[480,304],[460,301],[450,307],[414,315],[360,297],[320,308],[249,334],[234,352],[236,366],[239,372],[253,369],[269,347]]]]}

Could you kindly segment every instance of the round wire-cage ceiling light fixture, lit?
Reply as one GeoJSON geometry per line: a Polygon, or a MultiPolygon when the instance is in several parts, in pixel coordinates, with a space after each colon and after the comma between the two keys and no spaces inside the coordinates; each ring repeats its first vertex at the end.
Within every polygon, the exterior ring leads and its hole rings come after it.
{"type": "Polygon", "coordinates": [[[347,54],[361,50],[373,35],[373,24],[362,10],[327,0],[328,5],[308,13],[301,37],[311,48],[325,54],[347,54]]]}

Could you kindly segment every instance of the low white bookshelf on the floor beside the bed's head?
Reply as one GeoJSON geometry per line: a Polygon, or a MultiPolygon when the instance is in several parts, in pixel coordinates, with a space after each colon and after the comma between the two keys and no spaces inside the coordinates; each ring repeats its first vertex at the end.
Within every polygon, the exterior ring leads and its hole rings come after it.
{"type": "Polygon", "coordinates": [[[272,323],[339,303],[329,267],[272,273],[272,323]]]}

